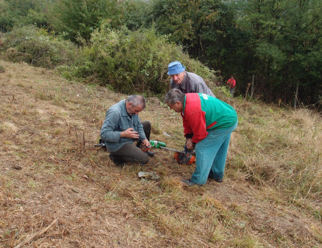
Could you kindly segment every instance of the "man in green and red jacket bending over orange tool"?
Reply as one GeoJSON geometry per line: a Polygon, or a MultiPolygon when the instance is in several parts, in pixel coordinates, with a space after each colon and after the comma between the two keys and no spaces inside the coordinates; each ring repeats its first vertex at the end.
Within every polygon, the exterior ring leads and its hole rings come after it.
{"type": "Polygon", "coordinates": [[[237,114],[229,104],[203,93],[184,94],[172,89],[164,102],[181,112],[188,149],[195,149],[196,169],[185,184],[206,184],[208,178],[223,181],[230,136],[237,127],[237,114]]]}

